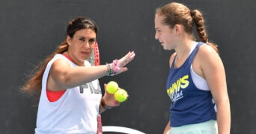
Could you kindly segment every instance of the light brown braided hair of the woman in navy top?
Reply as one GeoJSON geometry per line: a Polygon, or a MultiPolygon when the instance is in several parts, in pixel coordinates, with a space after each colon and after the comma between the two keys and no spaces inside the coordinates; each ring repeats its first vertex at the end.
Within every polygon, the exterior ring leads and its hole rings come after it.
{"type": "Polygon", "coordinates": [[[207,32],[204,28],[204,19],[199,10],[189,10],[183,4],[171,2],[156,9],[156,14],[165,16],[162,23],[174,28],[174,25],[183,25],[186,33],[192,34],[193,24],[195,23],[196,31],[201,42],[205,42],[213,47],[217,52],[217,45],[209,42],[207,32]]]}

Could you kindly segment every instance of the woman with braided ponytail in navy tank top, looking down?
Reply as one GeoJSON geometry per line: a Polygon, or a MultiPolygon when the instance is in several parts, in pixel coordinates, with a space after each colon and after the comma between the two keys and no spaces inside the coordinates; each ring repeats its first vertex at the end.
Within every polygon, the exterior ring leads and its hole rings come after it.
{"type": "Polygon", "coordinates": [[[207,37],[201,12],[177,2],[165,4],[156,9],[155,29],[162,47],[175,51],[169,60],[166,91],[171,106],[164,133],[230,133],[225,68],[207,37]]]}

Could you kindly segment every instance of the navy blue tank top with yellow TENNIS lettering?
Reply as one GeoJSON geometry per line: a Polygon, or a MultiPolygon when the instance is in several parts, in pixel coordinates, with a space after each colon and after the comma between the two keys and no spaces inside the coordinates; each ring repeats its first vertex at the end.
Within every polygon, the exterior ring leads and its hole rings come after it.
{"type": "Polygon", "coordinates": [[[210,91],[198,89],[193,83],[190,67],[198,48],[203,42],[198,42],[195,49],[180,68],[174,68],[174,61],[171,65],[166,89],[171,98],[169,108],[171,127],[180,127],[185,124],[196,124],[211,119],[216,120],[213,96],[210,91]]]}

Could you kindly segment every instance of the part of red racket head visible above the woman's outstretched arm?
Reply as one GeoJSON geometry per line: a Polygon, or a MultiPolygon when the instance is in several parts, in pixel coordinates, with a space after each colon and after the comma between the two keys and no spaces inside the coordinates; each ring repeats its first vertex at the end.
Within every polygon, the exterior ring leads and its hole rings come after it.
{"type": "Polygon", "coordinates": [[[91,63],[91,66],[100,65],[100,51],[97,42],[95,44],[94,51],[92,51],[91,56],[88,58],[88,62],[91,63]]]}

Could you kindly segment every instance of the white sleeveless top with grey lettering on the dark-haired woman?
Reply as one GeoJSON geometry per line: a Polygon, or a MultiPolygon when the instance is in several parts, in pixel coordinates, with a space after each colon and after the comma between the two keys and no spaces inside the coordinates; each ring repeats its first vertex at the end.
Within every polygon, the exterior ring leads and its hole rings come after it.
{"type": "MultiPolygon", "coordinates": [[[[55,102],[48,100],[47,77],[52,63],[58,59],[68,60],[64,55],[56,54],[44,71],[35,133],[96,133],[97,115],[102,98],[99,80],[67,89],[55,102]]],[[[76,64],[68,61],[72,67],[77,67],[76,64]]],[[[85,66],[91,66],[91,64],[85,61],[85,66]]]]}

